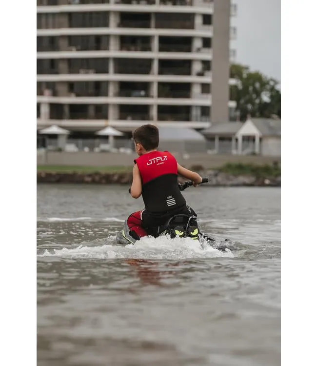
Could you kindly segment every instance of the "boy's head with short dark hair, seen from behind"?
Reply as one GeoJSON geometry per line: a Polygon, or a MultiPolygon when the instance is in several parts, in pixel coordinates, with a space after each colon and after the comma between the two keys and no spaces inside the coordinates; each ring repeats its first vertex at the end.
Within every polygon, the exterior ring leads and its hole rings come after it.
{"type": "Polygon", "coordinates": [[[133,140],[137,154],[143,155],[158,148],[158,127],[153,124],[143,124],[133,132],[133,140]]]}

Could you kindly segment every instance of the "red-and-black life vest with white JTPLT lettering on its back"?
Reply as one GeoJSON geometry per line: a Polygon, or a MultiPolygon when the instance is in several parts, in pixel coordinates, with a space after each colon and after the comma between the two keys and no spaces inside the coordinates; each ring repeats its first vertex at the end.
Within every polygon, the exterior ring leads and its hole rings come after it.
{"type": "Polygon", "coordinates": [[[142,198],[149,212],[168,212],[186,201],[178,187],[177,161],[168,151],[151,151],[134,161],[142,180],[142,198]]]}

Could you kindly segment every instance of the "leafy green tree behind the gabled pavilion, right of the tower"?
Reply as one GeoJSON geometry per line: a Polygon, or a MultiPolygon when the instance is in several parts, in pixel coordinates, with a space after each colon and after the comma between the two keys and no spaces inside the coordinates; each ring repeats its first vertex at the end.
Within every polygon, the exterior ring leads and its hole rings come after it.
{"type": "Polygon", "coordinates": [[[238,80],[238,85],[230,86],[230,100],[237,102],[236,113],[240,120],[251,117],[272,118],[281,116],[281,93],[278,81],[260,72],[251,72],[249,67],[232,64],[230,77],[238,80]]]}

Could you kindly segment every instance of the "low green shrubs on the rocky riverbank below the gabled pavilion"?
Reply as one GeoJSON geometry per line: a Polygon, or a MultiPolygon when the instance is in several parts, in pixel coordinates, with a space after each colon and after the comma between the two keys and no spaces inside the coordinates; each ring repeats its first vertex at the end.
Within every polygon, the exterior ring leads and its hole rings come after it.
{"type": "Polygon", "coordinates": [[[228,163],[219,170],[232,175],[252,175],[257,178],[279,177],[281,169],[278,165],[254,165],[242,163],[228,163]]]}

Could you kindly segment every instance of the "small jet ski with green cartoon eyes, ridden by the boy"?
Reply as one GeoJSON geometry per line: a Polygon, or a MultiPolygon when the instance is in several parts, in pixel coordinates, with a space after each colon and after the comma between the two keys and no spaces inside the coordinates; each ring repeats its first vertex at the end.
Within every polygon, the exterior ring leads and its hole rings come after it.
{"type": "MultiPolygon", "coordinates": [[[[208,182],[208,178],[203,178],[200,184],[208,182]]],[[[193,182],[187,181],[182,184],[179,183],[178,187],[179,190],[183,191],[192,185],[193,182]]],[[[131,189],[129,189],[129,193],[131,193],[131,189]]],[[[149,229],[149,236],[152,236],[154,238],[158,238],[160,236],[169,236],[171,239],[174,239],[176,237],[189,237],[193,240],[198,240],[200,244],[208,244],[219,250],[225,251],[225,249],[227,248],[226,244],[229,244],[229,241],[227,239],[224,243],[216,244],[216,239],[210,238],[207,235],[202,234],[197,225],[193,225],[192,219],[193,217],[188,215],[175,215],[167,220],[162,226],[149,229]]],[[[130,235],[130,229],[127,224],[127,220],[125,220],[122,230],[117,233],[117,244],[135,244],[136,241],[137,239],[130,235]]]]}

